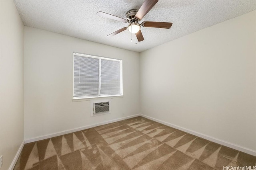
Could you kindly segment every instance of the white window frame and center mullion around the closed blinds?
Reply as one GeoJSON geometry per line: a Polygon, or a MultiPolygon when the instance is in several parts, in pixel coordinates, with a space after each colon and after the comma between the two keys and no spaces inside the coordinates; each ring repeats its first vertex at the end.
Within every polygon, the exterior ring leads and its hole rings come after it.
{"type": "Polygon", "coordinates": [[[83,54],[83,53],[73,52],[73,100],[123,96],[123,63],[122,62],[123,61],[121,59],[114,59],[114,58],[109,58],[109,57],[102,57],[102,56],[97,56],[97,55],[90,55],[90,54],[83,54]],[[99,92],[98,92],[99,95],[98,96],[74,97],[74,55],[99,59],[99,92]],[[119,61],[120,62],[120,94],[113,94],[113,95],[101,95],[100,94],[100,89],[101,89],[101,78],[100,78],[100,75],[101,75],[101,59],[111,60],[111,61],[119,61]]]}

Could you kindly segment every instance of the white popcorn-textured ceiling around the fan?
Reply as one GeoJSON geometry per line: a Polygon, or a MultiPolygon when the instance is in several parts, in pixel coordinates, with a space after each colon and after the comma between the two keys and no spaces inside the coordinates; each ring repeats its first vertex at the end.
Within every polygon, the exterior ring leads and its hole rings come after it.
{"type": "MultiPolygon", "coordinates": [[[[159,0],[142,21],[172,22],[170,29],[142,27],[144,41],[126,30],[128,23],[96,15],[102,11],[126,19],[144,0],[14,0],[24,25],[141,52],[255,10],[256,0],[159,0]],[[131,41],[132,37],[132,41],[131,41]]],[[[140,23],[141,23],[140,22],[140,23]]]]}

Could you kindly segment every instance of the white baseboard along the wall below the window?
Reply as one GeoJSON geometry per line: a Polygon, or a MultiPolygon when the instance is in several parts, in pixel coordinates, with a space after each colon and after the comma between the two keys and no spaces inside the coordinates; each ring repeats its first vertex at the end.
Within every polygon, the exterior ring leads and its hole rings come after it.
{"type": "Polygon", "coordinates": [[[61,131],[61,132],[57,132],[57,133],[51,133],[49,135],[42,135],[42,136],[38,136],[38,137],[35,137],[35,138],[25,139],[25,143],[40,141],[40,140],[44,140],[44,139],[48,139],[48,138],[52,138],[52,137],[56,137],[56,136],[60,136],[60,135],[66,135],[68,133],[73,133],[73,132],[76,132],[76,131],[82,131],[84,129],[89,129],[89,128],[100,126],[100,125],[106,125],[108,123],[113,123],[113,122],[116,122],[116,121],[121,121],[121,120],[129,119],[129,118],[137,117],[137,116],[140,116],[140,114],[130,115],[130,116],[127,116],[127,117],[122,117],[122,118],[118,118],[118,119],[104,121],[104,122],[101,122],[101,123],[96,123],[96,124],[93,124],[93,125],[78,127],[78,128],[75,128],[75,129],[70,129],[70,130],[61,131]]]}

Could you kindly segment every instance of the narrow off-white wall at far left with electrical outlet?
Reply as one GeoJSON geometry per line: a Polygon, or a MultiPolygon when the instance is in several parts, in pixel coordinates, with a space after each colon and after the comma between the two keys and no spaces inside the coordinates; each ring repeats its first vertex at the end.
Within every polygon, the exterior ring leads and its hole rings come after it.
{"type": "Polygon", "coordinates": [[[0,0],[0,155],[8,169],[24,140],[24,25],[12,0],[0,0]]]}

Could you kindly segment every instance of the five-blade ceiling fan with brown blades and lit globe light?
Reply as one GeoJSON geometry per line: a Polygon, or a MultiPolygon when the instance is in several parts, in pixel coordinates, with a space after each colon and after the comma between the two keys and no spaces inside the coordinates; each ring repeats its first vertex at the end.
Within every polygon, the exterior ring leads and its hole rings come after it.
{"type": "Polygon", "coordinates": [[[172,26],[171,22],[153,22],[153,21],[143,21],[142,23],[139,23],[140,20],[153,8],[153,6],[158,2],[158,0],[145,0],[140,7],[139,10],[129,10],[126,12],[126,19],[113,16],[111,14],[107,14],[105,12],[98,12],[97,15],[103,16],[106,18],[110,18],[112,20],[121,21],[124,23],[129,23],[127,27],[123,27],[109,35],[107,37],[112,37],[126,29],[128,29],[131,33],[135,33],[138,41],[143,41],[144,37],[142,35],[142,32],[140,31],[140,27],[155,27],[155,28],[166,28],[169,29],[172,26]]]}

